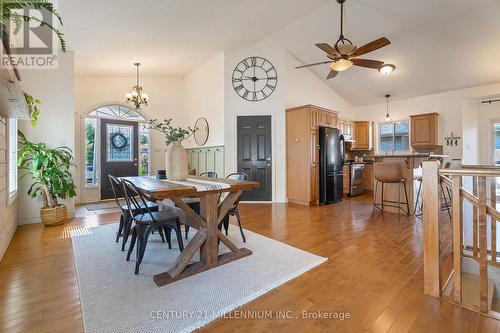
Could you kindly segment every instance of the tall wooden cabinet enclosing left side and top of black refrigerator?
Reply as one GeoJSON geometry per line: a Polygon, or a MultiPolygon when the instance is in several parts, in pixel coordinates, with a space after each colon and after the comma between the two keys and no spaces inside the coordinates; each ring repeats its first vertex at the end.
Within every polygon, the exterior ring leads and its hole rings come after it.
{"type": "Polygon", "coordinates": [[[319,200],[319,126],[336,127],[338,114],[314,105],[286,110],[287,197],[297,204],[319,200]]]}

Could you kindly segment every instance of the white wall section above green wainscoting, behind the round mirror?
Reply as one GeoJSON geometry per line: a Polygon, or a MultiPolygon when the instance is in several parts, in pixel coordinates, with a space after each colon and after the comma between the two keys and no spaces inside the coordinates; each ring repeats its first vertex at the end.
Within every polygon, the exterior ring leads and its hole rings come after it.
{"type": "MultiPolygon", "coordinates": [[[[208,121],[209,136],[205,146],[224,145],[224,53],[221,52],[184,79],[184,118],[194,127],[199,117],[208,121]]],[[[194,139],[184,147],[198,147],[194,139]]]]}

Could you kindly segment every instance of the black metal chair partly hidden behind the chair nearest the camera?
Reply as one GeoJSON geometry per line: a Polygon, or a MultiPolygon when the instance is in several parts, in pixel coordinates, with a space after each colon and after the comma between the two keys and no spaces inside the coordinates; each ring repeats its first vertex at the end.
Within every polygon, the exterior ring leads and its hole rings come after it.
{"type": "MultiPolygon", "coordinates": [[[[120,216],[120,224],[118,225],[118,232],[116,233],[116,242],[120,240],[120,237],[122,238],[122,251],[125,251],[125,245],[127,244],[128,237],[130,235],[130,227],[131,227],[131,218],[130,218],[130,213],[128,210],[127,205],[122,205],[120,202],[120,198],[124,198],[125,195],[123,193],[122,189],[122,182],[120,179],[108,175],[109,182],[111,183],[111,189],[113,190],[113,196],[115,198],[116,205],[120,208],[121,210],[121,216],[120,216]]],[[[151,201],[146,201],[146,206],[149,208],[150,211],[152,212],[157,212],[159,210],[159,206],[151,201]]],[[[133,211],[134,214],[140,214],[140,211],[133,211]]],[[[163,235],[163,232],[159,232],[160,237],[162,242],[165,242],[165,237],[163,235]]]]}

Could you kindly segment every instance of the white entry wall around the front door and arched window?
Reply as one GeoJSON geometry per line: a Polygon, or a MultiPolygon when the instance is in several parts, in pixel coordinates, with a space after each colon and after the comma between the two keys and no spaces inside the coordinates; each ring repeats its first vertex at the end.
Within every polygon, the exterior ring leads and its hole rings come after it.
{"type": "MultiPolygon", "coordinates": [[[[172,118],[176,126],[186,126],[187,119],[184,114],[184,78],[183,77],[141,77],[141,86],[150,96],[149,105],[143,107],[143,115],[147,119],[172,118]]],[[[76,77],[76,141],[79,163],[82,164],[83,152],[81,124],[82,119],[95,107],[119,103],[124,104],[125,93],[135,85],[134,77],[76,77]],[[78,130],[80,129],[80,130],[78,130]]],[[[189,124],[192,126],[192,124],[189,124]]],[[[152,135],[152,164],[151,171],[165,169],[165,140],[161,133],[153,132],[152,135]]],[[[78,181],[82,186],[83,174],[79,168],[78,181]]],[[[98,190],[86,191],[86,197],[78,198],[79,201],[94,201],[99,199],[98,190]],[[95,192],[95,193],[94,193],[95,192]]],[[[82,192],[80,192],[82,194],[82,192]]]]}

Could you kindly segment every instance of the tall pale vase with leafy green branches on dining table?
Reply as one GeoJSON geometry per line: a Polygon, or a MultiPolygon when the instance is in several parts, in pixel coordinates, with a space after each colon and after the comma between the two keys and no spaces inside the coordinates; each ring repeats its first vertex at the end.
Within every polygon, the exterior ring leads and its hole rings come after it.
{"type": "Polygon", "coordinates": [[[186,151],[181,142],[192,136],[196,132],[196,128],[188,127],[186,130],[182,127],[174,127],[172,126],[172,119],[163,121],[152,119],[146,127],[165,135],[165,143],[167,144],[165,170],[167,178],[170,180],[186,180],[189,170],[186,151]]]}

